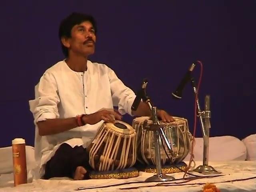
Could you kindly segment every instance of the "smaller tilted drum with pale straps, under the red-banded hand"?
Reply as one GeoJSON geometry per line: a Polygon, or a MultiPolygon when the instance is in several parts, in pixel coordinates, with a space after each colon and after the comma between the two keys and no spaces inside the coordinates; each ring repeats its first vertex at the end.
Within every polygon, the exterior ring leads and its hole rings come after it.
{"type": "Polygon", "coordinates": [[[127,123],[104,123],[88,147],[89,164],[96,171],[121,170],[136,162],[136,132],[127,123]]]}

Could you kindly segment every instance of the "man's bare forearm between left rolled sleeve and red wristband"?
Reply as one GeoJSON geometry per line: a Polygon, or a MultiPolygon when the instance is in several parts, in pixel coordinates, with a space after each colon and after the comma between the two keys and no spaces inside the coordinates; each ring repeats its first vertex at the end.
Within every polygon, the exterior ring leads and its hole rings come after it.
{"type": "Polygon", "coordinates": [[[40,136],[61,133],[78,126],[76,118],[47,119],[38,122],[37,125],[40,136]]]}

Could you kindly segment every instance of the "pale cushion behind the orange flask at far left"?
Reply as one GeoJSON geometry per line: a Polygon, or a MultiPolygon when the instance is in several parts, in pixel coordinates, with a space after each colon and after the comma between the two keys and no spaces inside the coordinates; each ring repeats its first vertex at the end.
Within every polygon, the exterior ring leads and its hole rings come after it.
{"type": "MultiPolygon", "coordinates": [[[[0,148],[0,174],[13,171],[12,146],[0,148]]],[[[36,166],[34,158],[34,147],[26,146],[27,172],[36,166]]]]}

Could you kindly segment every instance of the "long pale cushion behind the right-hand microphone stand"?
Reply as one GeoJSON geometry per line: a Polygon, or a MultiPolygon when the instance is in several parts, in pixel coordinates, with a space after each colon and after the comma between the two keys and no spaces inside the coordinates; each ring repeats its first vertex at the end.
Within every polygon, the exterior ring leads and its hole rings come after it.
{"type": "MultiPolygon", "coordinates": [[[[194,157],[196,161],[203,160],[203,138],[195,138],[194,157]]],[[[190,154],[184,161],[189,161],[190,154]]],[[[218,136],[209,138],[209,161],[230,161],[245,160],[246,146],[244,143],[233,136],[218,136]]]]}

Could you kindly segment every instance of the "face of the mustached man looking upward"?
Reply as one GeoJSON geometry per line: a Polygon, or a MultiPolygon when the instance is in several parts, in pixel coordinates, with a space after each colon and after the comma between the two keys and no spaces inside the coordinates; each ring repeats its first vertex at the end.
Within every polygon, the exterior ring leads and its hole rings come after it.
{"type": "Polygon", "coordinates": [[[89,56],[95,50],[95,30],[89,21],[75,25],[71,30],[71,38],[66,39],[69,55],[89,56]]]}

